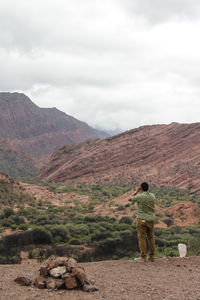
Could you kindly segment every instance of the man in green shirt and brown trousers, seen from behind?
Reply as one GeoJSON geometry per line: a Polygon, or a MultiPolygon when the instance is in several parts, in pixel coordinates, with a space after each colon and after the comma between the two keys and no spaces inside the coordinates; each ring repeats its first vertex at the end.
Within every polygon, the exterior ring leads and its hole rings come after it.
{"type": "Polygon", "coordinates": [[[154,241],[154,201],[155,196],[148,191],[149,185],[143,182],[136,188],[133,196],[128,199],[132,204],[137,202],[137,235],[140,248],[140,258],[137,261],[146,261],[146,237],[149,242],[149,260],[154,261],[155,241],[154,241]]]}

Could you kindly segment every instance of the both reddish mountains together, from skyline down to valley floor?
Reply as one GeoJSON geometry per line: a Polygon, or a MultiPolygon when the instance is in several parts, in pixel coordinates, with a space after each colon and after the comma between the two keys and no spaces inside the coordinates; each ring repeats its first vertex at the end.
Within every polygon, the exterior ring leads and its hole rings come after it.
{"type": "Polygon", "coordinates": [[[200,192],[200,123],[141,126],[113,137],[21,93],[0,93],[0,172],[43,181],[133,183],[200,192]]]}

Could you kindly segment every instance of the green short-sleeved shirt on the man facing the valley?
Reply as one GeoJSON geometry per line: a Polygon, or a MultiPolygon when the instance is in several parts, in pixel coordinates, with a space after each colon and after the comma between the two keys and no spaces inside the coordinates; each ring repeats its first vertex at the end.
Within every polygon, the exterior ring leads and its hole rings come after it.
{"type": "Polygon", "coordinates": [[[143,192],[131,197],[132,203],[137,201],[137,217],[145,221],[154,221],[155,196],[149,192],[143,192]]]}

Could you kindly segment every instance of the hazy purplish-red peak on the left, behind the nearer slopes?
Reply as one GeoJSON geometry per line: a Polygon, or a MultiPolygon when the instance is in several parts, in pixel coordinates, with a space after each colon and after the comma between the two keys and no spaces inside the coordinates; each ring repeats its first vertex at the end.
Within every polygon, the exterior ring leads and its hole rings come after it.
{"type": "Polygon", "coordinates": [[[40,108],[20,93],[0,93],[0,137],[25,152],[36,165],[61,145],[106,137],[59,111],[40,108]]]}

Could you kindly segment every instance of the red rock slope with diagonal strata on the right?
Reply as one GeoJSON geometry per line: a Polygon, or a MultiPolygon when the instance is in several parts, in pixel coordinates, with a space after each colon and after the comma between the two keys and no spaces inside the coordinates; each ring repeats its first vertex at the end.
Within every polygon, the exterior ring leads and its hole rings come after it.
{"type": "Polygon", "coordinates": [[[46,181],[133,182],[200,192],[200,123],[143,126],[66,145],[42,168],[46,181]]]}

